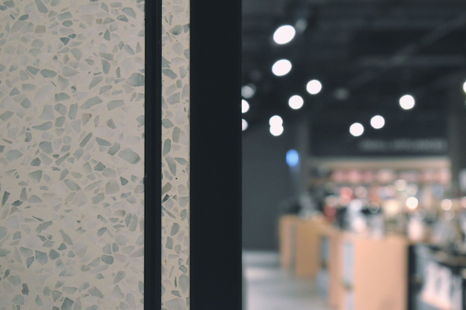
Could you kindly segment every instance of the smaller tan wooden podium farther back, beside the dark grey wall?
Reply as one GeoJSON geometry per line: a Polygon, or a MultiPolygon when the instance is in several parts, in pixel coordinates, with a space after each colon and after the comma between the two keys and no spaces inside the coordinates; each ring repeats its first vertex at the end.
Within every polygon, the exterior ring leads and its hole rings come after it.
{"type": "Polygon", "coordinates": [[[320,234],[325,226],[322,218],[280,218],[281,266],[293,270],[298,277],[315,277],[320,269],[320,234]]]}

